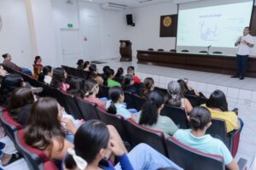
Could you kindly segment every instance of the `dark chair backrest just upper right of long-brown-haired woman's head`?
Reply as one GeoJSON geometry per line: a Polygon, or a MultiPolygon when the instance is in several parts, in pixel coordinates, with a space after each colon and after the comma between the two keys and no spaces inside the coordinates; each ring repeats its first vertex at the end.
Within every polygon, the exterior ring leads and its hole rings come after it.
{"type": "Polygon", "coordinates": [[[75,119],[82,119],[82,113],[79,110],[79,106],[76,102],[76,97],[60,90],[55,90],[55,97],[59,101],[60,105],[65,108],[68,114],[72,115],[75,119]]]}

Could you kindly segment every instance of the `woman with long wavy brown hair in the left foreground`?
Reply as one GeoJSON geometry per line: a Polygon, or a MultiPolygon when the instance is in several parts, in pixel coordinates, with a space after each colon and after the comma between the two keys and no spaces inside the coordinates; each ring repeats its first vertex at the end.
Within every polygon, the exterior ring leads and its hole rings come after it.
{"type": "Polygon", "coordinates": [[[76,133],[77,128],[67,118],[61,118],[61,105],[55,99],[40,98],[32,105],[32,111],[28,116],[24,129],[26,144],[43,150],[49,159],[61,161],[73,144],[65,139],[64,127],[76,133]]]}

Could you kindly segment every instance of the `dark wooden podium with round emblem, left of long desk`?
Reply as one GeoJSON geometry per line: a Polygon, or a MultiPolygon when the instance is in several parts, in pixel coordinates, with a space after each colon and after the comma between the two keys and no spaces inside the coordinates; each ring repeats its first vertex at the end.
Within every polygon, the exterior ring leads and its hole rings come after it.
{"type": "Polygon", "coordinates": [[[131,42],[129,40],[120,40],[120,61],[131,61],[131,42]]]}

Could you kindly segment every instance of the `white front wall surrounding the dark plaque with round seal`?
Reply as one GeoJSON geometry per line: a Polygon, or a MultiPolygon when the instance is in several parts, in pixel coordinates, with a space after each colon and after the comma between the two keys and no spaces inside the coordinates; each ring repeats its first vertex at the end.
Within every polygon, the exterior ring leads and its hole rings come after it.
{"type": "Polygon", "coordinates": [[[138,49],[163,48],[170,50],[175,48],[175,37],[160,37],[160,16],[177,14],[177,5],[173,3],[161,3],[143,8],[133,8],[125,11],[132,14],[135,27],[126,26],[127,39],[132,42],[132,55],[137,56],[138,49]]]}

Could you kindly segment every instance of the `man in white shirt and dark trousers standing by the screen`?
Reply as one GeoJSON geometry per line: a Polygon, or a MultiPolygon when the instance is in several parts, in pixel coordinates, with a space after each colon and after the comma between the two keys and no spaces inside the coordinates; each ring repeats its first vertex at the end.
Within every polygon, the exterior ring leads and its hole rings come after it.
{"type": "Polygon", "coordinates": [[[240,78],[243,80],[247,69],[247,59],[249,57],[250,48],[253,48],[253,37],[250,35],[250,28],[245,27],[243,30],[243,36],[239,37],[235,43],[235,47],[238,46],[238,52],[236,54],[236,75],[232,78],[240,78]]]}

